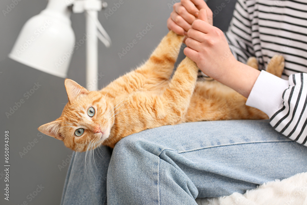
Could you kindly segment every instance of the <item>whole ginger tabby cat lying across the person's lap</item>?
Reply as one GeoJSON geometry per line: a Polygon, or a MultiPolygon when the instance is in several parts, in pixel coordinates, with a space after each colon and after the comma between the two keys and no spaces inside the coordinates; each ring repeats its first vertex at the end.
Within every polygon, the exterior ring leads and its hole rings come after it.
{"type": "MultiPolygon", "coordinates": [[[[162,125],[268,119],[260,110],[246,106],[246,98],[227,86],[217,81],[196,82],[198,67],[188,57],[169,79],[183,38],[170,31],[143,65],[99,91],[89,92],[66,79],[68,104],[58,119],[38,130],[84,152],[100,145],[114,148],[125,136],[162,125]]],[[[255,58],[249,63],[257,67],[255,58]]],[[[281,56],[274,57],[268,69],[276,74],[283,69],[282,63],[281,56]]]]}

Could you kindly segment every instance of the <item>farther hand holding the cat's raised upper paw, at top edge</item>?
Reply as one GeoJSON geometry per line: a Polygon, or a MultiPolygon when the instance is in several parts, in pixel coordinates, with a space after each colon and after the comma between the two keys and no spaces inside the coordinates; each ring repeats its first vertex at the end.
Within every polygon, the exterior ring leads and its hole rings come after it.
{"type": "Polygon", "coordinates": [[[181,0],[175,3],[173,12],[167,20],[167,27],[178,35],[186,35],[192,23],[198,17],[200,9],[207,10],[209,24],[213,25],[212,11],[203,0],[181,0]]]}

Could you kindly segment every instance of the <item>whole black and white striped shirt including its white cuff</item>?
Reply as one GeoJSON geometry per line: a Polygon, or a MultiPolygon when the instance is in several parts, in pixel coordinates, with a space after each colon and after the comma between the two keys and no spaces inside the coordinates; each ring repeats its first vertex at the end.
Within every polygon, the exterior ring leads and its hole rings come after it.
{"type": "Polygon", "coordinates": [[[225,36],[239,61],[255,56],[262,70],[246,104],[307,146],[307,1],[238,0],[225,36]],[[276,54],[285,58],[283,79],[263,70],[276,54]]]}

